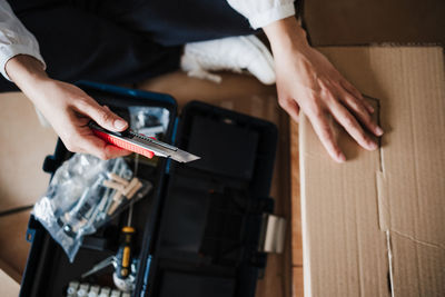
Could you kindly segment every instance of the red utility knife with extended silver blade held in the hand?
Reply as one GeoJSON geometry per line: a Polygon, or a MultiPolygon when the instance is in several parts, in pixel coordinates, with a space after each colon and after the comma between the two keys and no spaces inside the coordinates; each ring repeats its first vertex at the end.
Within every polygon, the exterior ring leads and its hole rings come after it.
{"type": "Polygon", "coordinates": [[[152,156],[156,155],[158,157],[171,158],[178,162],[189,162],[200,159],[198,156],[162,141],[137,133],[131,129],[127,129],[123,132],[113,132],[103,129],[93,121],[90,121],[88,126],[92,129],[95,135],[105,141],[148,158],[152,158],[152,156]]]}

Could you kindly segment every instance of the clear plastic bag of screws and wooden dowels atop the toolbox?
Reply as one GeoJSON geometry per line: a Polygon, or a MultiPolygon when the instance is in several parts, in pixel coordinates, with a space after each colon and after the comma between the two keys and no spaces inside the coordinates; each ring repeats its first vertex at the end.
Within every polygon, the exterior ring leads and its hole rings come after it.
{"type": "Polygon", "coordinates": [[[55,172],[32,212],[73,261],[86,235],[151,188],[149,181],[134,176],[122,158],[100,160],[76,154],[55,172]]]}

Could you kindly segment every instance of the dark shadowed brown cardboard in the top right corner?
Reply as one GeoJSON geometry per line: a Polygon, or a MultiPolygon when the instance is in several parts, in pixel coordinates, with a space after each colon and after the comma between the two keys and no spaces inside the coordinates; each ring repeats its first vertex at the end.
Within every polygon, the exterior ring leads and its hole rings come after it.
{"type": "Polygon", "coordinates": [[[304,19],[315,46],[445,43],[443,0],[310,0],[304,19]]]}

